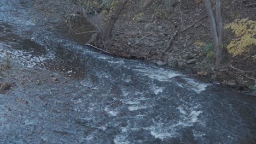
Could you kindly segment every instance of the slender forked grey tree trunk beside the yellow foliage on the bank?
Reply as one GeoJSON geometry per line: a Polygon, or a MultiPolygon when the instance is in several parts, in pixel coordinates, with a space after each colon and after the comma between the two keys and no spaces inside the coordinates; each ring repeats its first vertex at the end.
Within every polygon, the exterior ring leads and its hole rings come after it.
{"type": "Polygon", "coordinates": [[[210,28],[212,33],[212,39],[216,50],[216,64],[220,64],[224,60],[223,52],[223,22],[221,14],[220,0],[216,0],[216,20],[213,14],[211,0],[205,0],[206,10],[210,20],[210,28]],[[216,25],[217,24],[217,25],[216,25]]]}

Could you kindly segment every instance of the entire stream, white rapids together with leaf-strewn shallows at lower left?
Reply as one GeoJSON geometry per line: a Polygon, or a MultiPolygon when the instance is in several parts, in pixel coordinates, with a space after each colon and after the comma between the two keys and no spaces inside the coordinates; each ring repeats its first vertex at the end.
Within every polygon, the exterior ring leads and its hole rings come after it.
{"type": "Polygon", "coordinates": [[[0,1],[0,143],[256,140],[254,97],[103,55],[36,23],[32,8],[0,1]]]}

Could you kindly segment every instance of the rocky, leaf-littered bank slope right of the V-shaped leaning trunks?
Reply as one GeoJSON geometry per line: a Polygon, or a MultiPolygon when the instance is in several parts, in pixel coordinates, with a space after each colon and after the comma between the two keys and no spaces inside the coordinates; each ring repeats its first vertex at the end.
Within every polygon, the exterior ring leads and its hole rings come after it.
{"type": "MultiPolygon", "coordinates": [[[[249,7],[249,3],[252,1],[223,2],[224,25],[244,17],[255,20],[255,7],[249,7]]],[[[152,7],[156,6],[153,4],[152,7]]],[[[145,59],[159,66],[168,65],[207,77],[237,91],[256,94],[253,90],[256,85],[256,59],[251,57],[256,49],[248,56],[228,55],[229,62],[217,66],[203,2],[179,3],[167,14],[152,7],[137,14],[126,10],[128,17],[120,16],[113,30],[113,40],[104,47],[101,43],[95,45],[115,56],[145,59]]],[[[225,29],[224,35],[224,45],[227,46],[235,37],[229,36],[232,33],[228,29],[225,29]]]]}

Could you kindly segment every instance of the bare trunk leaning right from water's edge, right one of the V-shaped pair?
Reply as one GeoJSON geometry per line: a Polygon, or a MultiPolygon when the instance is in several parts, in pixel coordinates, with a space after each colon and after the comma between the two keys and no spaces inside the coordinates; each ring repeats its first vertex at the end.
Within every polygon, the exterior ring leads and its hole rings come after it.
{"type": "Polygon", "coordinates": [[[120,0],[119,5],[115,9],[113,15],[110,17],[110,21],[105,28],[104,41],[109,41],[111,39],[111,32],[113,30],[115,22],[117,21],[118,16],[120,15],[121,11],[124,9],[124,7],[128,1],[129,0],[120,0]]]}

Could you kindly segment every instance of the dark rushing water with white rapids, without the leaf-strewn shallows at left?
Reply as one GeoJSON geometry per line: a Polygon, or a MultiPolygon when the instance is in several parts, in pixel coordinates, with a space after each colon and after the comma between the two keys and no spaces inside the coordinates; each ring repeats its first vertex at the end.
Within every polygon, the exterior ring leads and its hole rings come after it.
{"type": "MultiPolygon", "coordinates": [[[[74,143],[74,136],[78,143],[255,142],[256,107],[246,102],[246,95],[176,70],[114,58],[78,45],[33,22],[32,5],[25,0],[0,1],[0,57],[11,55],[26,67],[71,77],[73,88],[81,89],[73,98],[59,95],[70,102],[67,122],[31,120],[32,125],[45,124],[45,135],[40,136],[45,143],[74,143]],[[87,93],[86,88],[94,91],[87,93]],[[56,133],[55,128],[65,132],[56,133]]],[[[46,115],[44,107],[38,109],[46,115]]],[[[19,135],[26,135],[22,132],[26,127],[22,128],[19,135]]],[[[10,129],[0,125],[0,143],[39,143],[5,136],[15,133],[10,129]]]]}

